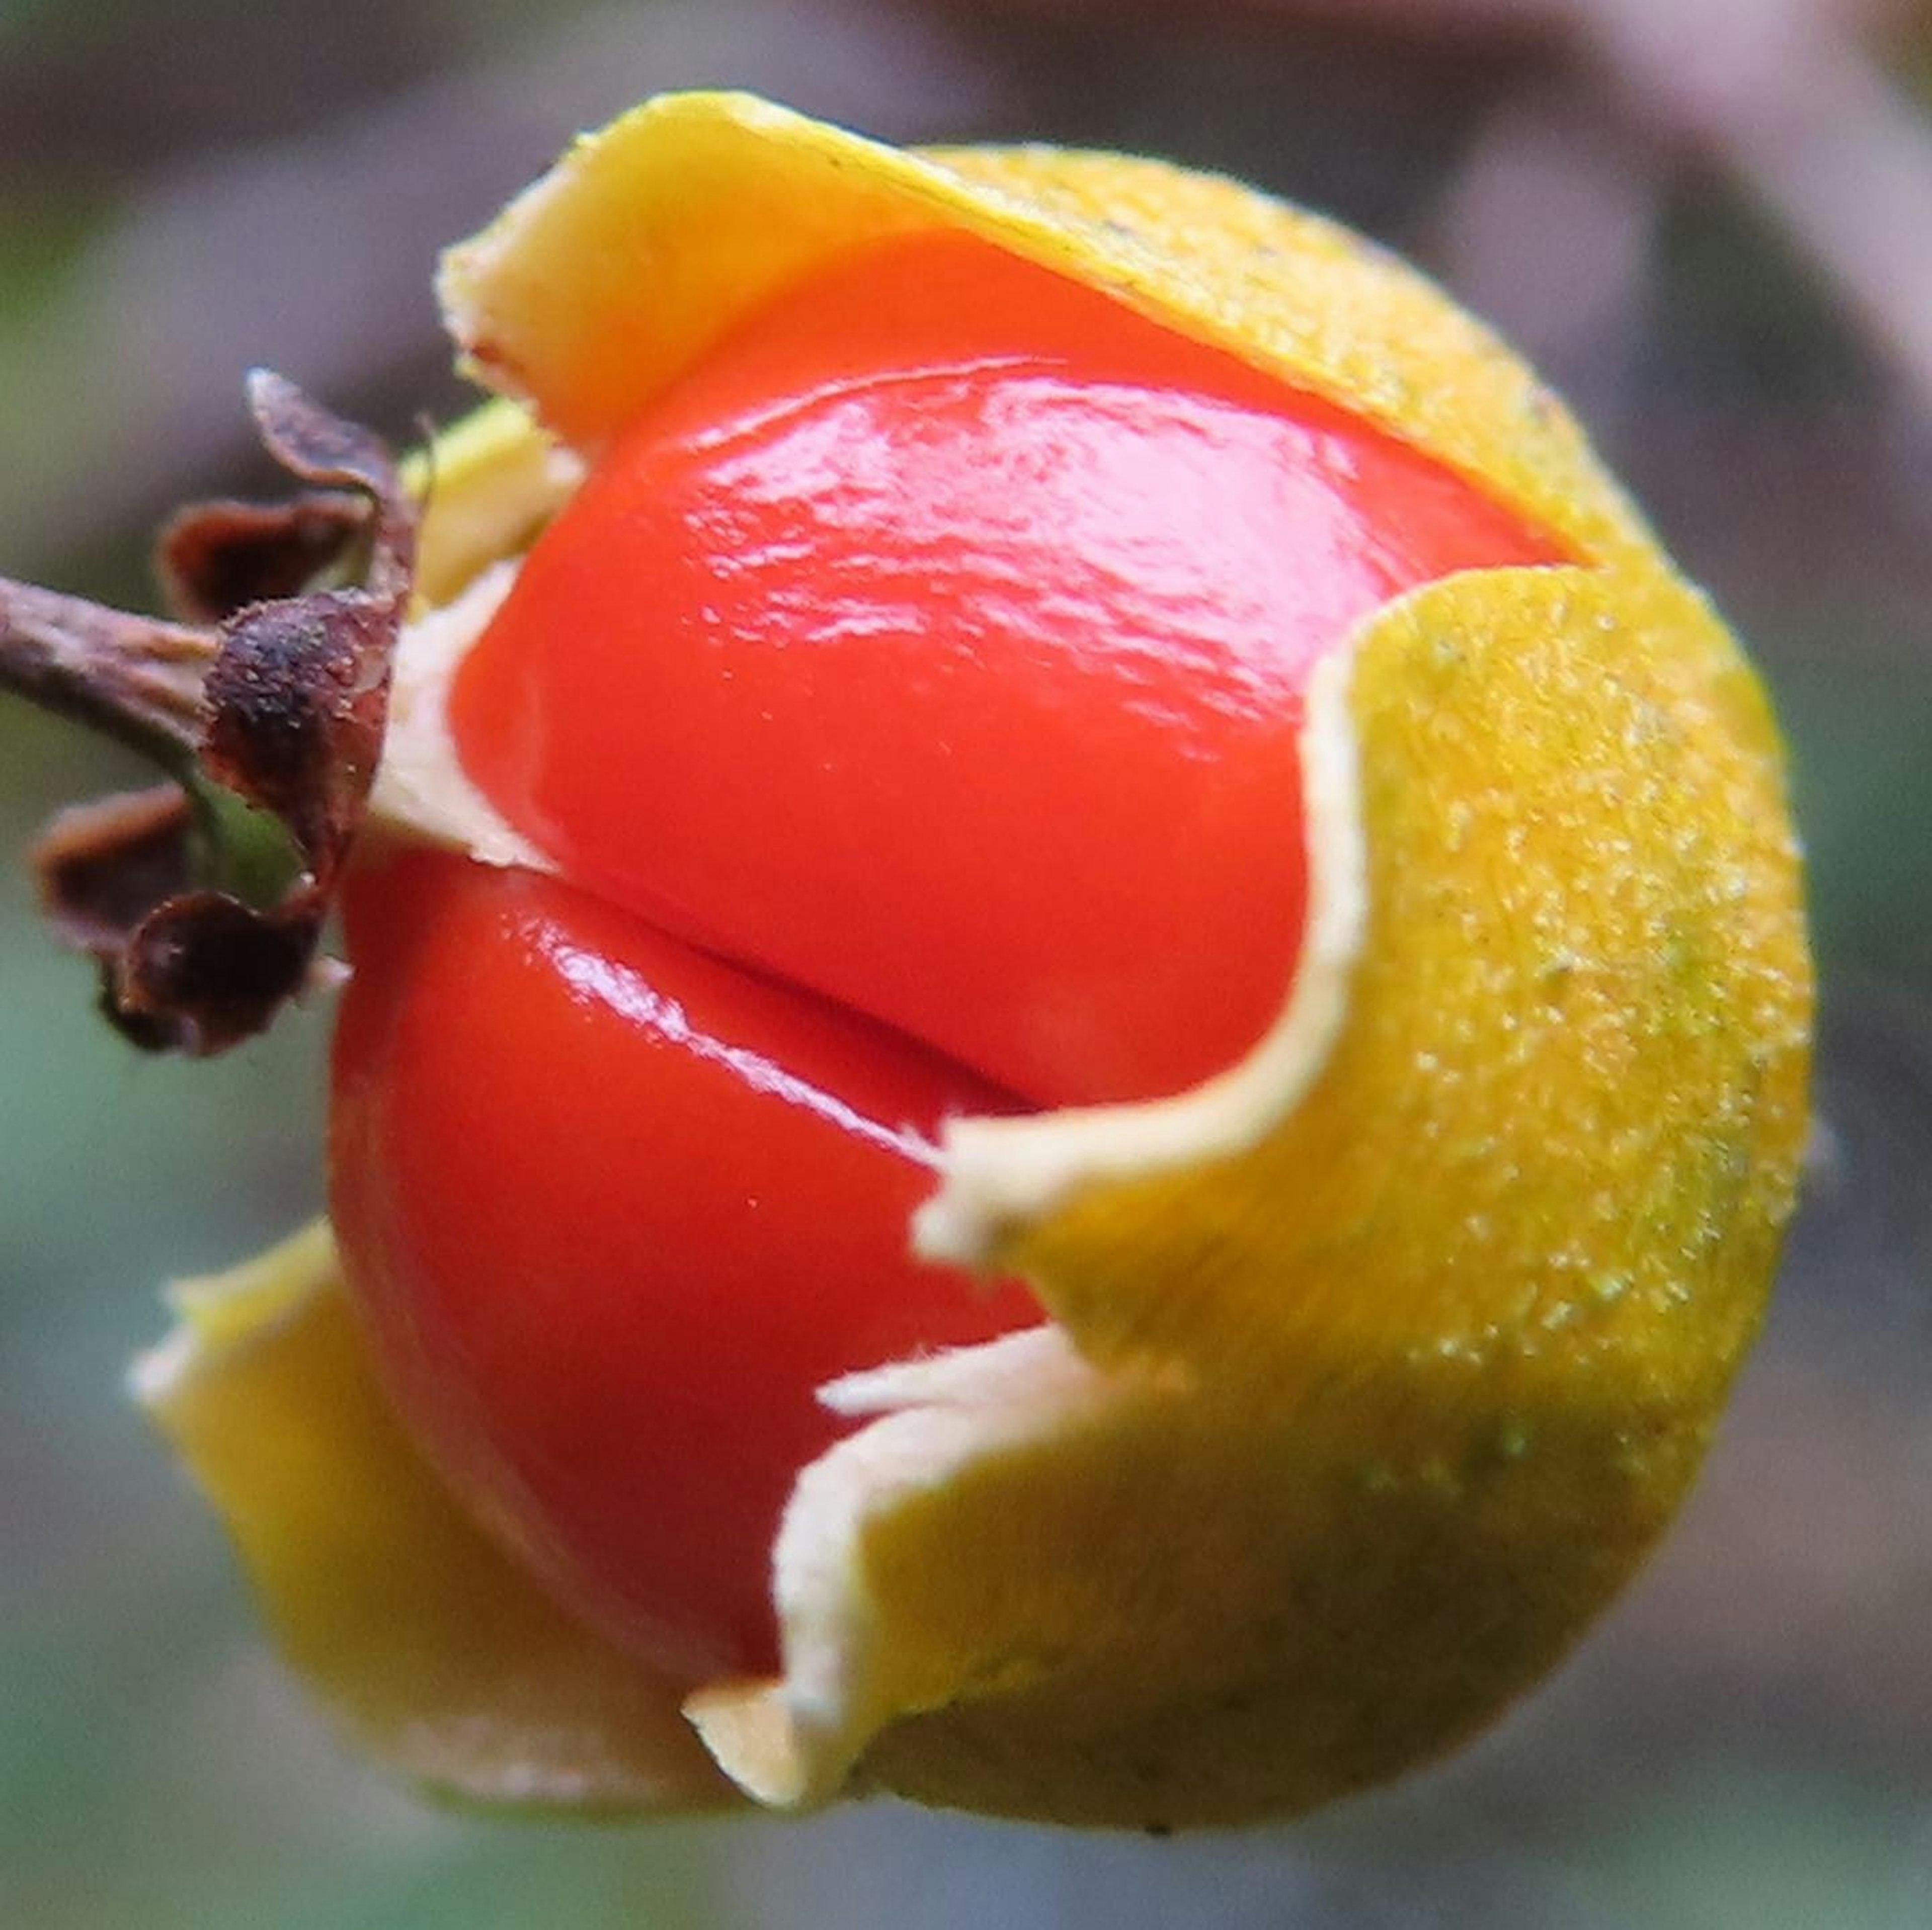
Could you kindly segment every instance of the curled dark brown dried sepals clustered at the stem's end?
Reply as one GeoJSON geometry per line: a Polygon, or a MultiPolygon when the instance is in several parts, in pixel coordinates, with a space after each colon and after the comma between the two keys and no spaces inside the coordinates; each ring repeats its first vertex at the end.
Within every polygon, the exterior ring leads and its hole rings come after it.
{"type": "MultiPolygon", "coordinates": [[[[187,610],[218,610],[213,634],[0,583],[10,638],[19,630],[12,610],[31,607],[48,618],[35,643],[48,628],[112,639],[97,661],[64,667],[71,686],[64,695],[50,694],[44,676],[27,690],[60,709],[100,709],[91,690],[126,684],[129,665],[162,647],[178,667],[180,638],[201,641],[191,703],[180,703],[176,680],[178,715],[147,734],[151,742],[185,736],[199,773],[278,819],[301,856],[299,877],[267,908],[193,885],[197,825],[180,784],[66,811],[48,827],[35,850],[48,916],[100,962],[112,1022],[156,1051],[226,1051],[261,1032],[307,983],[367,808],[410,601],[415,510],[383,442],[265,371],[249,381],[249,404],[270,454],[328,493],[303,495],[282,512],[213,504],[170,525],[162,556],[170,595],[187,610]],[[222,609],[238,595],[313,578],[348,543],[367,543],[359,587],[222,609]],[[187,713],[193,728],[184,732],[187,713]]],[[[17,655],[25,659],[27,649],[17,655]]],[[[10,682],[27,688],[29,680],[10,682]]],[[[139,738],[139,723],[122,734],[139,738]]]]}

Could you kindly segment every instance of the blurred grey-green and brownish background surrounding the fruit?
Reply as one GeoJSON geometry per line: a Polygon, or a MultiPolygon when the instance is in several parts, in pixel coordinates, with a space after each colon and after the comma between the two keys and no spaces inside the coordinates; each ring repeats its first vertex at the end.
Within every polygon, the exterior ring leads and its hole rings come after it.
{"type": "MultiPolygon", "coordinates": [[[[0,1922],[21,1930],[1932,1924],[1932,19],[1913,0],[0,0],[0,570],[143,599],[269,489],[240,373],[462,408],[435,247],[663,87],[1227,168],[1418,255],[1580,406],[1789,726],[1826,976],[1768,1341],[1538,1698],[1312,1822],[881,1804],[485,1826],[342,1756],[120,1395],[151,1285],[319,1204],[323,1022],[124,1051],[0,881],[0,1922]]],[[[0,844],[128,773],[0,703],[0,844]]]]}

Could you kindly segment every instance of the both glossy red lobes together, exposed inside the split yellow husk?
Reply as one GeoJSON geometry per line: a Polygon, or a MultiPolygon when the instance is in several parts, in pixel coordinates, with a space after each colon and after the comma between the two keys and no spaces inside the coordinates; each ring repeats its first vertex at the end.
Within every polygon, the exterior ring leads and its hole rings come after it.
{"type": "Polygon", "coordinates": [[[1246,1051],[1302,925],[1310,667],[1555,556],[958,236],[713,350],[458,678],[466,767],[570,883],[379,852],[348,891],[336,1225],[450,1480],[661,1667],[773,1669],[815,1387],[1039,1318],[908,1262],[922,1136],[1246,1051]]]}

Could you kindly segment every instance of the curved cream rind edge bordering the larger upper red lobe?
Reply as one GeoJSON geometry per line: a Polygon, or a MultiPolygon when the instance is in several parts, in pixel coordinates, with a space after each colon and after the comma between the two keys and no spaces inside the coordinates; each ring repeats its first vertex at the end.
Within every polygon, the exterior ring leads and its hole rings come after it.
{"type": "Polygon", "coordinates": [[[1300,730],[1308,918],[1275,1024],[1236,1064],[1167,1099],[947,1121],[939,1190],[912,1219],[912,1250],[922,1260],[985,1267],[1014,1225],[1051,1213],[1084,1186],[1246,1151],[1316,1082],[1341,1034],[1349,978],[1368,933],[1368,852],[1349,715],[1354,655],[1352,643],[1335,649],[1308,682],[1300,730]]]}

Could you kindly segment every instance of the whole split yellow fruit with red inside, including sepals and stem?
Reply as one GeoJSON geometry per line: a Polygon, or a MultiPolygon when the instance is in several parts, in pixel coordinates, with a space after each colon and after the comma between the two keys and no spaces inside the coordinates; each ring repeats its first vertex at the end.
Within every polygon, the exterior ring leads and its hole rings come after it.
{"type": "Polygon", "coordinates": [[[328,1221],[133,1377],[290,1663],[502,1806],[1165,1830],[1474,1733],[1791,1211],[1721,622],[1445,296],[1161,162],[670,95],[440,294],[427,448],[257,375],[298,487],[170,616],[0,583],[160,767],[35,854],[106,1014],[334,1005],[328,1221]]]}

